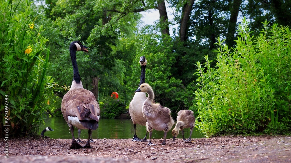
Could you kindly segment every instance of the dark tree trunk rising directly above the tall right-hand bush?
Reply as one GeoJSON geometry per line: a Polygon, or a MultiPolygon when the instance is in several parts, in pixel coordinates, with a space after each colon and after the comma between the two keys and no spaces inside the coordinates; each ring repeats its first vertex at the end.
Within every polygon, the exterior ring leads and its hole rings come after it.
{"type": "Polygon", "coordinates": [[[226,34],[226,44],[229,47],[233,47],[235,45],[235,31],[236,31],[236,23],[239,12],[239,7],[242,4],[242,0],[233,0],[233,3],[230,4],[230,19],[228,23],[228,31],[226,34]]]}

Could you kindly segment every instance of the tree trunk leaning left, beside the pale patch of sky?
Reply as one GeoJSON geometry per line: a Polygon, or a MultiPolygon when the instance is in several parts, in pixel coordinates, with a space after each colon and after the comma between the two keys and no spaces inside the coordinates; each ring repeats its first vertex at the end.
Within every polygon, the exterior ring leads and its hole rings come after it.
{"type": "Polygon", "coordinates": [[[164,0],[158,1],[158,7],[160,14],[160,27],[162,35],[170,35],[168,14],[166,10],[166,4],[164,0]]]}

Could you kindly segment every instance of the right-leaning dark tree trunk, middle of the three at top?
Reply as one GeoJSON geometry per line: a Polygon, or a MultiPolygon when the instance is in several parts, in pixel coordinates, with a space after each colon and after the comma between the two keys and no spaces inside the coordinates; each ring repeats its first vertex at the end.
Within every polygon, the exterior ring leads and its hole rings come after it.
{"type": "Polygon", "coordinates": [[[188,21],[190,19],[191,9],[194,4],[194,0],[190,0],[183,7],[181,26],[180,26],[180,40],[187,40],[187,29],[188,29],[188,21]]]}

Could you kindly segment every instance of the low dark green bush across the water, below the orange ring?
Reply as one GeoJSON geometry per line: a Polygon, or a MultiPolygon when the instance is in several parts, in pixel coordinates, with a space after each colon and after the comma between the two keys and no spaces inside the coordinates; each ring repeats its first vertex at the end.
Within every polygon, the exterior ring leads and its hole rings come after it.
{"type": "Polygon", "coordinates": [[[114,119],[120,114],[126,113],[126,104],[124,99],[114,99],[113,97],[108,96],[102,101],[103,102],[100,102],[100,118],[114,119]]]}

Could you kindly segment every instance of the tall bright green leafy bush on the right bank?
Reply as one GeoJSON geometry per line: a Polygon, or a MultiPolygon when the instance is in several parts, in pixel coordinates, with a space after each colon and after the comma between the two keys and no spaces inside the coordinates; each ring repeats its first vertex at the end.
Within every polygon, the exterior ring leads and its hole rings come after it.
{"type": "Polygon", "coordinates": [[[291,32],[267,25],[254,39],[244,19],[233,52],[218,39],[216,69],[207,56],[197,62],[198,128],[205,135],[290,131],[291,32]]]}

